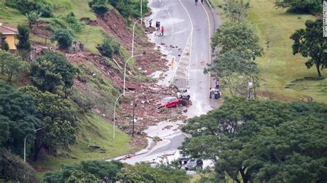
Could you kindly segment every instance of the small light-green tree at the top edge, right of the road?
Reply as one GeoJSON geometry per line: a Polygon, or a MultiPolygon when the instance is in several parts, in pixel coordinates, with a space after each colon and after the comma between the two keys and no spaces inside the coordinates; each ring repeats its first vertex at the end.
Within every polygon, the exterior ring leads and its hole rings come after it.
{"type": "Polygon", "coordinates": [[[250,3],[244,3],[243,0],[225,0],[223,5],[223,10],[226,17],[230,19],[231,22],[241,23],[248,16],[248,8],[250,8],[250,3]]]}

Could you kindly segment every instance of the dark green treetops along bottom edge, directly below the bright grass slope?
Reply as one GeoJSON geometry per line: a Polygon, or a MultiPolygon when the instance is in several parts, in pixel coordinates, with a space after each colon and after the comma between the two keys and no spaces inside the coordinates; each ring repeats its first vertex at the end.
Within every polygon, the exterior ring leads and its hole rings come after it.
{"type": "Polygon", "coordinates": [[[116,181],[117,173],[123,168],[121,162],[105,162],[105,161],[88,161],[81,164],[63,166],[61,171],[46,173],[44,182],[66,182],[67,180],[79,179],[74,174],[81,174],[87,177],[96,177],[103,182],[116,181]],[[92,176],[93,175],[93,176],[92,176]]]}

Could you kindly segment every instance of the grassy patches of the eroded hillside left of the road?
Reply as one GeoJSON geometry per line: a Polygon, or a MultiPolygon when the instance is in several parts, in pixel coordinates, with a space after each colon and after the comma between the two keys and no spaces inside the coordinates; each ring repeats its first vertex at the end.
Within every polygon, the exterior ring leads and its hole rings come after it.
{"type": "MultiPolygon", "coordinates": [[[[63,17],[69,12],[74,12],[78,19],[97,19],[88,7],[88,0],[49,0],[48,2],[52,4],[52,8],[54,9],[54,18],[45,18],[43,21],[52,23],[54,19],[57,19],[63,25],[68,26],[63,21],[63,17]]],[[[0,2],[0,22],[13,27],[16,27],[18,24],[28,24],[26,16],[18,10],[7,8],[3,1],[0,2]]],[[[101,44],[108,34],[99,26],[86,25],[81,32],[74,32],[73,36],[85,45],[87,51],[99,54],[96,45],[101,44]]],[[[44,43],[45,41],[33,34],[30,34],[30,37],[32,41],[37,43],[44,43]]],[[[54,45],[54,43],[50,43],[50,45],[54,45]]],[[[121,49],[123,57],[129,56],[123,47],[121,49]]],[[[115,99],[119,95],[119,90],[112,83],[112,80],[104,76],[99,71],[99,68],[90,61],[73,64],[79,69],[79,77],[87,78],[88,82],[79,82],[77,85],[75,81],[75,89],[70,99],[85,100],[88,98],[91,100],[95,109],[101,112],[101,114],[103,111],[109,111],[111,113],[115,99]]],[[[111,65],[110,67],[112,69],[117,67],[109,60],[108,64],[111,65]]],[[[133,67],[134,63],[130,62],[129,66],[133,67]]],[[[0,79],[4,80],[3,76],[0,76],[0,79]]],[[[29,80],[29,78],[25,80],[29,80]]],[[[15,78],[12,85],[20,86],[19,78],[15,78]]],[[[77,109],[77,105],[75,107],[77,109]]],[[[39,172],[39,177],[45,173],[44,171],[60,169],[63,164],[77,163],[82,160],[106,160],[118,155],[130,153],[131,147],[128,142],[130,142],[131,138],[126,133],[116,129],[116,138],[113,140],[113,126],[111,122],[100,116],[100,114],[92,111],[79,114],[77,118],[77,143],[72,145],[69,151],[59,152],[59,155],[55,157],[41,153],[39,161],[31,162],[36,169],[43,171],[39,172]],[[95,149],[92,149],[92,146],[95,146],[95,149]]],[[[108,116],[108,118],[111,117],[108,116]]]]}

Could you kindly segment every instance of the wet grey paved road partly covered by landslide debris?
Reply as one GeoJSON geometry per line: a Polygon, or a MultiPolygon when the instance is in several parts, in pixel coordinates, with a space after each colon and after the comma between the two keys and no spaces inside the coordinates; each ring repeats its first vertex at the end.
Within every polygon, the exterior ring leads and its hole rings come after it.
{"type": "MultiPolygon", "coordinates": [[[[191,95],[192,105],[188,108],[187,116],[200,116],[213,108],[217,108],[217,100],[208,97],[212,80],[204,74],[204,68],[211,62],[210,35],[215,32],[217,18],[210,12],[206,4],[195,5],[190,0],[150,0],[152,9],[152,25],[160,21],[164,26],[164,36],[156,31],[149,34],[150,41],[160,47],[161,52],[167,55],[170,69],[164,73],[166,78],[159,81],[161,85],[176,85],[187,88],[191,95]],[[216,21],[215,21],[216,20],[216,21]]],[[[218,22],[219,23],[219,22],[218,22]]],[[[149,137],[161,138],[157,144],[150,141],[147,149],[139,152],[132,158],[122,162],[135,164],[135,162],[159,162],[163,155],[172,160],[179,157],[177,148],[186,138],[187,134],[179,130],[181,122],[160,122],[157,126],[149,127],[145,132],[149,137]],[[163,129],[172,125],[171,129],[163,129]],[[167,156],[168,155],[168,156],[167,156]]]]}

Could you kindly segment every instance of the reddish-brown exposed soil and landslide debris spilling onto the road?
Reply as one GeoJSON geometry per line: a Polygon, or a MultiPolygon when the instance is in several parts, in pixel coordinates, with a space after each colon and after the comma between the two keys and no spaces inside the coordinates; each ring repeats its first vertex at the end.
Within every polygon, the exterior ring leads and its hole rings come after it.
{"type": "MultiPolygon", "coordinates": [[[[115,11],[109,11],[103,18],[97,17],[97,21],[91,21],[90,19],[81,19],[81,21],[86,22],[89,25],[102,26],[108,34],[112,35],[121,43],[123,47],[131,50],[132,46],[132,32],[126,27],[123,18],[117,14],[115,11]]],[[[45,30],[47,25],[39,25],[38,28],[34,28],[33,34],[44,38],[46,35],[50,34],[45,30]]],[[[146,30],[151,31],[151,30],[146,30]]],[[[56,48],[48,47],[46,45],[40,45],[33,43],[34,53],[32,57],[35,58],[41,54],[43,50],[51,50],[53,52],[60,52],[56,48]]],[[[71,53],[66,52],[66,58],[70,63],[75,63],[75,65],[80,65],[83,63],[94,64],[99,72],[106,76],[115,87],[121,89],[123,88],[123,76],[121,76],[121,71],[112,67],[112,65],[106,62],[106,58],[101,55],[91,54],[89,52],[77,52],[71,53]]],[[[166,59],[159,52],[155,50],[155,44],[148,42],[146,38],[135,37],[135,55],[142,54],[136,57],[136,68],[135,72],[141,72],[142,74],[148,76],[157,70],[166,70],[166,59]]],[[[115,61],[122,68],[125,63],[123,58],[119,55],[114,56],[115,61]]],[[[128,75],[132,74],[128,72],[128,75]]],[[[75,89],[79,89],[80,92],[88,92],[88,87],[86,83],[88,80],[83,80],[83,78],[75,78],[75,89]]],[[[135,98],[135,138],[130,142],[133,151],[138,151],[139,149],[146,146],[146,136],[143,134],[143,130],[149,125],[155,125],[157,122],[167,120],[168,118],[173,118],[172,120],[184,120],[186,117],[182,114],[186,110],[186,107],[178,106],[172,109],[157,109],[155,104],[158,103],[162,98],[167,96],[176,96],[176,89],[169,87],[162,87],[156,85],[155,83],[145,83],[145,82],[132,82],[128,80],[126,83],[126,97],[122,100],[121,108],[123,111],[117,111],[117,126],[128,134],[132,134],[132,100],[135,98]]],[[[99,109],[94,109],[98,114],[104,114],[108,122],[112,122],[113,111],[99,111],[99,109]]]]}

